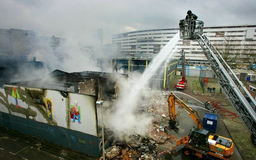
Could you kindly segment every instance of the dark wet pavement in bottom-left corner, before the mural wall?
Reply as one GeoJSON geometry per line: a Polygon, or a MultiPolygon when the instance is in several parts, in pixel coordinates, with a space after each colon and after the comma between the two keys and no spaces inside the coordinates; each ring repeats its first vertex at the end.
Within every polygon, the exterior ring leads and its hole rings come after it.
{"type": "Polygon", "coordinates": [[[30,135],[0,127],[0,159],[97,159],[30,135]]]}

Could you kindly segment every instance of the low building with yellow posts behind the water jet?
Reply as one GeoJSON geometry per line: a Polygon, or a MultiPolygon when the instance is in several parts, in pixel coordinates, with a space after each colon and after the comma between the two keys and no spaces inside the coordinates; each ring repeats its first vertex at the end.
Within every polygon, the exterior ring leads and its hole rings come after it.
{"type": "MultiPolygon", "coordinates": [[[[143,73],[148,65],[152,62],[152,58],[115,58],[97,59],[98,66],[104,71],[105,68],[112,68],[113,73],[143,73]]],[[[169,87],[170,80],[176,75],[178,59],[166,59],[157,69],[154,76],[148,81],[150,88],[166,88],[169,87]]],[[[132,75],[131,75],[132,76],[132,75]]]]}

